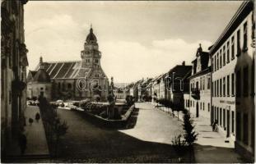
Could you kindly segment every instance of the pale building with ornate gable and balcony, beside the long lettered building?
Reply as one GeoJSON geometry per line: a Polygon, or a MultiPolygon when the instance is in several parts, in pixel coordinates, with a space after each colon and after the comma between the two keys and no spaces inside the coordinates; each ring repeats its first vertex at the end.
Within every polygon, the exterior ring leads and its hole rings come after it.
{"type": "MultiPolygon", "coordinates": [[[[184,97],[184,107],[194,116],[211,116],[211,61],[208,52],[201,45],[192,62],[192,75],[189,76],[189,95],[184,97]]],[[[209,121],[210,124],[210,121],[209,121]]]]}

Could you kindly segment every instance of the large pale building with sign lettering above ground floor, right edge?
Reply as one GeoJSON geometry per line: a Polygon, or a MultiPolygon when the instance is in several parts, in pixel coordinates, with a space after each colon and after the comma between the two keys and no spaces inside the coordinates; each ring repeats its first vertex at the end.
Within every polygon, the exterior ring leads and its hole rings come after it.
{"type": "Polygon", "coordinates": [[[254,2],[245,1],[210,49],[212,118],[235,150],[254,161],[254,2]]]}

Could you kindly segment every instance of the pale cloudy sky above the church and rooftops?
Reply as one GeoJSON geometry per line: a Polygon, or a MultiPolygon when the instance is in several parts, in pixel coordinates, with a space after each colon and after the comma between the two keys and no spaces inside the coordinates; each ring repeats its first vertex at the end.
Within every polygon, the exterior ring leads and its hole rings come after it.
{"type": "Polygon", "coordinates": [[[80,61],[90,26],[101,66],[115,83],[155,77],[185,61],[198,44],[215,43],[241,2],[29,1],[25,5],[28,70],[40,61],[80,61]]]}

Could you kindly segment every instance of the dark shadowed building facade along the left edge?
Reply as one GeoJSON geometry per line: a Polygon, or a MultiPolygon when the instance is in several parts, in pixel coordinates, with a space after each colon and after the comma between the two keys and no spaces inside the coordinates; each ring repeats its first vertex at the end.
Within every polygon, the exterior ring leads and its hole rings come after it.
{"type": "Polygon", "coordinates": [[[25,122],[28,50],[23,6],[27,1],[1,2],[1,154],[5,157],[25,122]]]}

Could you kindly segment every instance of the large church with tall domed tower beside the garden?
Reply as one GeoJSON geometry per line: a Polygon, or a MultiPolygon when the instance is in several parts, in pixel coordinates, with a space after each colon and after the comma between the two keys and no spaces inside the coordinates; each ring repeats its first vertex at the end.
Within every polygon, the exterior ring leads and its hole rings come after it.
{"type": "Polygon", "coordinates": [[[49,100],[81,100],[99,95],[106,100],[109,80],[100,66],[101,52],[92,28],[86,37],[81,61],[43,62],[28,74],[27,95],[49,100]],[[50,91],[50,92],[49,92],[50,91]]]}

